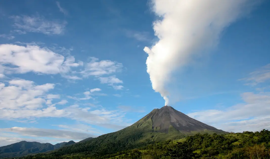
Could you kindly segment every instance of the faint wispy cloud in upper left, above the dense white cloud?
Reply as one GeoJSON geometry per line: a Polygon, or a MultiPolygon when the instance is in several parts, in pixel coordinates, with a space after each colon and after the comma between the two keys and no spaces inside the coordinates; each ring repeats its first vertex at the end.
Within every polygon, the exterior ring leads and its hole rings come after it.
{"type": "Polygon", "coordinates": [[[21,29],[21,33],[26,32],[36,32],[43,33],[46,35],[52,34],[61,34],[63,33],[65,26],[67,24],[66,21],[49,21],[44,17],[40,16],[12,16],[14,19],[14,27],[16,30],[21,29]]]}

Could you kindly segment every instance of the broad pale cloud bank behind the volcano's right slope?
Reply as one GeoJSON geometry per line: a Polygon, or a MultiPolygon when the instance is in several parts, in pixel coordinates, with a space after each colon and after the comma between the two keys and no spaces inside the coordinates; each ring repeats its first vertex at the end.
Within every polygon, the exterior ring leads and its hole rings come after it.
{"type": "Polygon", "coordinates": [[[236,104],[225,110],[204,110],[187,114],[201,122],[225,131],[259,131],[270,128],[270,92],[242,93],[245,103],[236,104]],[[240,120],[240,121],[239,121],[240,120]],[[257,122],[257,124],[255,124],[257,122]]]}

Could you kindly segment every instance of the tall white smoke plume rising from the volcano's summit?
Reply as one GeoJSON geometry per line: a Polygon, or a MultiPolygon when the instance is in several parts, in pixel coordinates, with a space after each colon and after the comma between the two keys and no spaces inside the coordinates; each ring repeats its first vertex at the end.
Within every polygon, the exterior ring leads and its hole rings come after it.
{"type": "MultiPolygon", "coordinates": [[[[171,74],[188,64],[191,55],[215,46],[222,30],[250,11],[257,0],[152,0],[158,42],[146,60],[152,87],[169,104],[166,85],[171,74]]],[[[258,2],[258,1],[257,1],[258,2]]]]}

